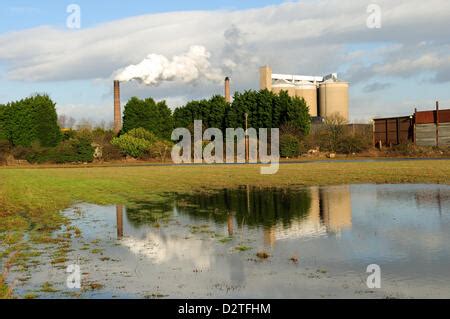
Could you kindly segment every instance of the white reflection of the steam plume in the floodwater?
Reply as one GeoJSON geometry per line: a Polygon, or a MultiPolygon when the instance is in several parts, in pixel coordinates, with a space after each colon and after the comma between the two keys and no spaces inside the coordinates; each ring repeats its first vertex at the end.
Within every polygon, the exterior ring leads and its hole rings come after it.
{"type": "Polygon", "coordinates": [[[184,239],[163,234],[147,233],[142,239],[124,237],[120,243],[138,256],[144,256],[155,264],[171,261],[187,261],[194,267],[210,268],[213,251],[211,243],[199,239],[184,239]]]}

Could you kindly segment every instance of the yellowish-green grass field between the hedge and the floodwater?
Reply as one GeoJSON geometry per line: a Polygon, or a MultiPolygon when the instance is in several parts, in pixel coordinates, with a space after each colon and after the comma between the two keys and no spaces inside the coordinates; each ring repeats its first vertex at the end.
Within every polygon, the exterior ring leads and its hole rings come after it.
{"type": "MultiPolygon", "coordinates": [[[[26,266],[32,243],[53,244],[55,249],[64,245],[65,239],[54,239],[52,233],[68,225],[59,212],[78,202],[157,201],[167,192],[209,191],[240,185],[450,184],[450,160],[284,164],[275,175],[261,175],[259,168],[259,165],[1,168],[1,264],[26,266]],[[29,238],[26,241],[24,234],[29,238]]],[[[0,287],[0,297],[2,291],[6,294],[7,288],[0,287]]]]}

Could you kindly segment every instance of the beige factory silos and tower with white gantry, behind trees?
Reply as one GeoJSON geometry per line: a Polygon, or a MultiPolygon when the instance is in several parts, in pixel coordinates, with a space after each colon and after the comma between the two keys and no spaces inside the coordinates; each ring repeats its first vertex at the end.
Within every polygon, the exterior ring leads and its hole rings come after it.
{"type": "Polygon", "coordinates": [[[339,81],[337,74],[305,76],[273,74],[269,66],[260,68],[260,89],[274,93],[287,91],[292,97],[304,98],[311,117],[325,118],[338,113],[349,119],[348,83],[339,81]]]}

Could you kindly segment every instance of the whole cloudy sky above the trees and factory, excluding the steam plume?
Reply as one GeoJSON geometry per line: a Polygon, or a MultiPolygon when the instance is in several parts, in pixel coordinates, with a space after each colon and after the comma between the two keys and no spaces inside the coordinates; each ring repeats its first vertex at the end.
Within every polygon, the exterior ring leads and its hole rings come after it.
{"type": "Polygon", "coordinates": [[[448,0],[3,0],[0,104],[47,93],[59,114],[109,123],[118,72],[149,54],[186,61],[192,46],[206,50],[198,77],[122,83],[122,103],[153,97],[175,108],[223,94],[223,83],[204,76],[211,70],[230,76],[232,91],[258,89],[267,64],[274,73],[337,72],[350,83],[357,122],[431,109],[436,100],[450,106],[448,0]],[[71,4],[80,28],[70,27],[71,4]]]}

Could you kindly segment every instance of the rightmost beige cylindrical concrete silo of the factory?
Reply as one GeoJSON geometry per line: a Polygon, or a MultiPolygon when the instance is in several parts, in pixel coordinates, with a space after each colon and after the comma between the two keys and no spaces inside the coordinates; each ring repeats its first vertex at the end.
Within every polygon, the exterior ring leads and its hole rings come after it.
{"type": "Polygon", "coordinates": [[[319,84],[319,115],[328,117],[338,113],[347,121],[348,115],[348,83],[328,80],[319,84]]]}

